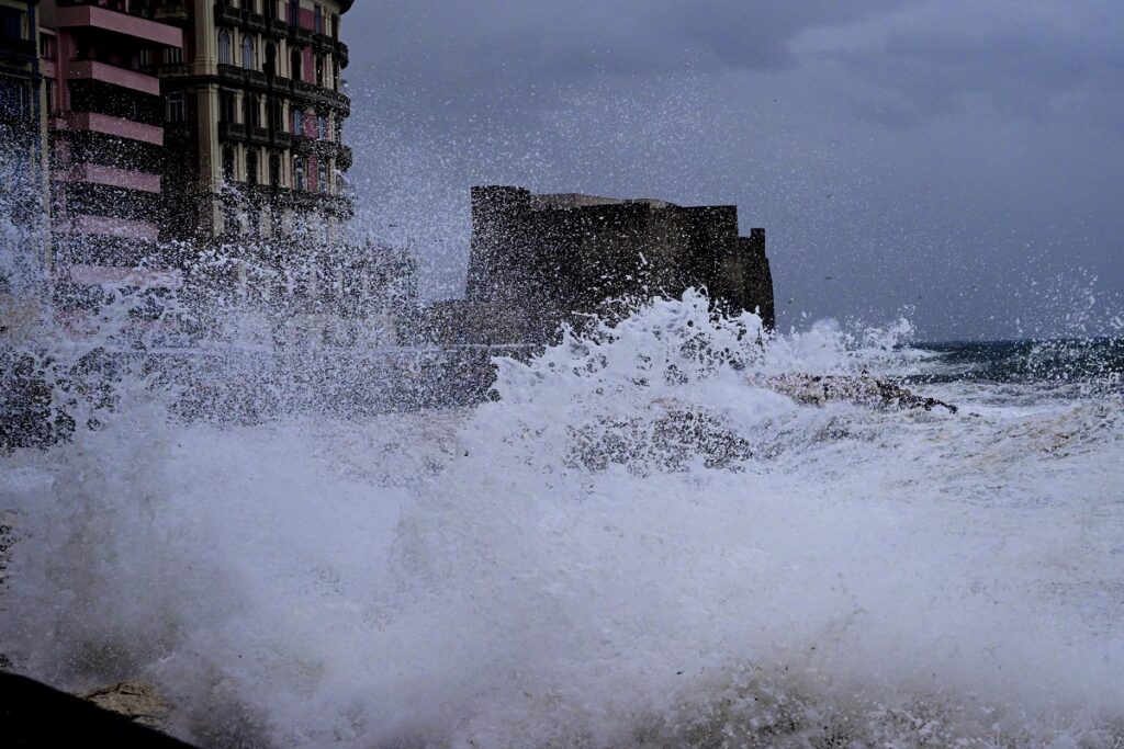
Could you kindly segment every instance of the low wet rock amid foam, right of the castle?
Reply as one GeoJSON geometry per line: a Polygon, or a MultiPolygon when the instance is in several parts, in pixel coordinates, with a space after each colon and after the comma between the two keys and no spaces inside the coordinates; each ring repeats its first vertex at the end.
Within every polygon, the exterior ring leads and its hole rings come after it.
{"type": "Polygon", "coordinates": [[[942,408],[950,413],[955,413],[959,410],[951,403],[917,395],[900,385],[870,375],[786,374],[769,377],[763,385],[806,405],[824,405],[831,401],[846,401],[855,405],[881,409],[932,411],[935,408],[942,408]]]}

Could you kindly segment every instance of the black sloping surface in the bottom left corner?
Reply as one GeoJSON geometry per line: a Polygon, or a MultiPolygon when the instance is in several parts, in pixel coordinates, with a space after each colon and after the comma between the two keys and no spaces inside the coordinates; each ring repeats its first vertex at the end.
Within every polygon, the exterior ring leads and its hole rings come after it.
{"type": "Polygon", "coordinates": [[[190,747],[85,700],[24,676],[0,673],[4,747],[190,747]]]}

